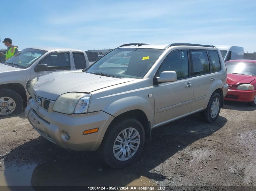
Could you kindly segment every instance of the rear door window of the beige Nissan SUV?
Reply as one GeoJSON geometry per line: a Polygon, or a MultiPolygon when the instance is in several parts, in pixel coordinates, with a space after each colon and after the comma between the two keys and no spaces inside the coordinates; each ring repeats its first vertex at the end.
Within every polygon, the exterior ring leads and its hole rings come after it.
{"type": "Polygon", "coordinates": [[[207,52],[204,50],[191,50],[194,75],[210,72],[207,52]]]}

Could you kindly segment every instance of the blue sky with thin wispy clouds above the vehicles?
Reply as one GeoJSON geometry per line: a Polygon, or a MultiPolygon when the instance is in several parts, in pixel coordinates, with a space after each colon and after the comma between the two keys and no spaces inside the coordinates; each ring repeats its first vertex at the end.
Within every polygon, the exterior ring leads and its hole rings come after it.
{"type": "MultiPolygon", "coordinates": [[[[1,1],[1,40],[11,38],[20,50],[35,46],[88,50],[113,49],[125,43],[197,43],[256,51],[254,0],[8,2],[1,1]]],[[[3,43],[1,46],[6,48],[3,43]]]]}

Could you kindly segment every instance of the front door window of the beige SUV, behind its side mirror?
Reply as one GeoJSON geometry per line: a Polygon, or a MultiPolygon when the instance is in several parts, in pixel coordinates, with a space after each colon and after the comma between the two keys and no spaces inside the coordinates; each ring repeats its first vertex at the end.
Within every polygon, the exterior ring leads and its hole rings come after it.
{"type": "Polygon", "coordinates": [[[175,71],[178,78],[188,77],[188,51],[171,52],[159,68],[159,75],[164,71],[175,71]]]}

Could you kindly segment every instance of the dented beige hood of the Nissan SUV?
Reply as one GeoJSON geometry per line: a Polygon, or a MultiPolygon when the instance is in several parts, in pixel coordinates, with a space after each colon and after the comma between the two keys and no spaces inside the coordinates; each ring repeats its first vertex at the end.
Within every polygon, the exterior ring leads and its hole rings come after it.
{"type": "Polygon", "coordinates": [[[39,78],[34,85],[37,96],[56,100],[68,92],[90,93],[109,86],[133,81],[134,78],[111,78],[81,71],[53,72],[39,78]]]}

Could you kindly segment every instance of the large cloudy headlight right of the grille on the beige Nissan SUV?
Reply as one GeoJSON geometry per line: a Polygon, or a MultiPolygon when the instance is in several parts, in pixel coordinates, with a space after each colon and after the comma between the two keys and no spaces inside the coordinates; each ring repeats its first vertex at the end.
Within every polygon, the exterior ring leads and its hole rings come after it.
{"type": "Polygon", "coordinates": [[[60,95],[53,105],[53,110],[65,114],[86,113],[91,94],[70,92],[60,95]]]}

